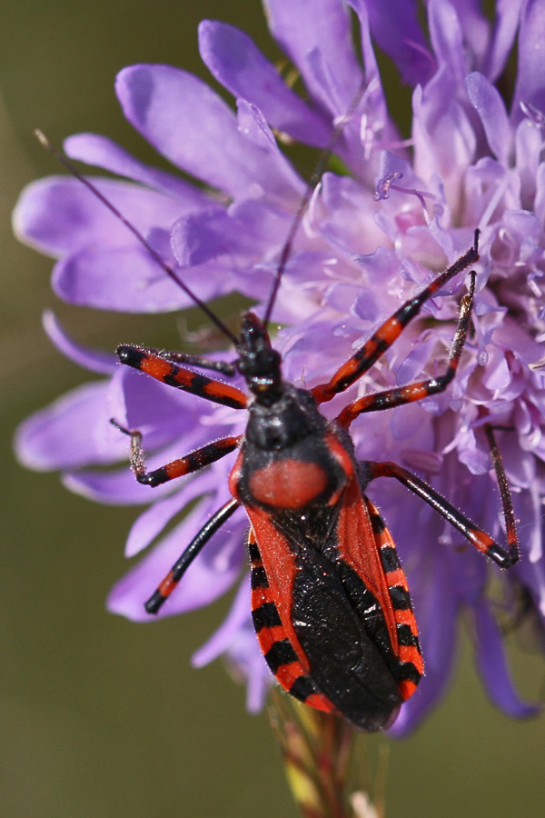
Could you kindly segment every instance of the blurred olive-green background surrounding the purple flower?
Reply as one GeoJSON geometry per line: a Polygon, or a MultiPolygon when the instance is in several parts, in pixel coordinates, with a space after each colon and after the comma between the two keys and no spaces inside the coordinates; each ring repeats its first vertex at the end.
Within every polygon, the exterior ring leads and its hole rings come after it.
{"type": "MultiPolygon", "coordinates": [[[[286,0],[288,2],[288,0],[286,0]]],[[[2,560],[0,594],[0,815],[7,818],[295,816],[265,716],[221,663],[189,658],[222,621],[228,601],[143,626],[104,610],[123,574],[135,509],[95,506],[56,475],[14,462],[26,414],[87,375],[45,341],[53,306],[86,344],[176,344],[173,317],[75,310],[49,291],[51,262],[15,243],[10,211],[21,188],[58,167],[32,130],[109,135],[146,161],[149,146],[124,122],[114,76],[124,65],[180,65],[204,77],[196,28],[219,18],[252,33],[266,53],[258,0],[8,2],[0,25],[0,257],[3,266],[2,560]]],[[[543,664],[514,653],[520,689],[540,696],[543,664]]],[[[487,702],[465,640],[446,703],[411,739],[369,741],[371,763],[389,748],[389,818],[462,814],[541,816],[545,720],[510,722],[487,702]]]]}

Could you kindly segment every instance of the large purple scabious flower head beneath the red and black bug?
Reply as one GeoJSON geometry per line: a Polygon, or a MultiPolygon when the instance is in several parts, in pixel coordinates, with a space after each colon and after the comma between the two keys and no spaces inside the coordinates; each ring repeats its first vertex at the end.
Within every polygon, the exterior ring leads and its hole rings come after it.
{"type": "MultiPolygon", "coordinates": [[[[507,713],[530,713],[510,681],[496,613],[512,610],[523,592],[541,621],[545,614],[545,7],[499,0],[489,21],[476,2],[430,0],[425,29],[417,4],[408,0],[266,0],[266,12],[272,36],[301,75],[304,99],[247,35],[204,21],[203,61],[236,99],[236,112],[177,68],[134,65],[117,78],[124,115],[172,163],[172,173],[144,165],[98,135],[72,136],[64,149],[128,180],[94,177],[201,299],[238,292],[253,298],[259,312],[305,190],[274,133],[323,147],[365,77],[366,91],[335,147],[348,173],[323,176],[294,239],[273,312],[273,321],[282,324],[275,345],[286,379],[323,382],[403,300],[465,252],[474,229],[481,229],[474,333],[453,385],[421,403],[362,416],[352,424],[352,437],[359,457],[393,460],[422,474],[501,542],[500,501],[481,424],[502,427],[522,556],[509,574],[498,573],[500,597],[493,603],[490,565],[449,524],[398,484],[370,486],[409,577],[426,663],[426,676],[393,729],[406,732],[441,696],[462,608],[470,613],[490,697],[507,713]],[[358,23],[363,65],[351,18],[358,23]],[[408,142],[387,108],[373,41],[413,88],[408,142]],[[508,106],[497,84],[515,45],[518,74],[508,106]],[[204,188],[184,181],[176,169],[204,188]]],[[[57,259],[54,291],[72,304],[134,313],[191,304],[124,225],[72,178],[30,185],[15,210],[15,229],[57,259]]],[[[454,297],[446,293],[426,304],[380,364],[327,404],[326,413],[338,414],[358,394],[441,372],[462,278],[452,284],[454,297]]],[[[29,418],[17,436],[19,456],[34,468],[61,470],[67,487],[98,502],[147,504],[126,554],[153,546],[108,600],[113,612],[143,621],[144,600],[208,515],[227,501],[233,456],[152,493],[119,464],[126,438],[109,419],[143,432],[153,469],[242,433],[243,413],[83,348],[50,314],[45,328],[64,354],[102,377],[29,418]],[[195,501],[183,522],[163,534],[195,501]]],[[[231,613],[194,663],[226,655],[247,679],[254,710],[271,677],[250,620],[246,528],[242,511],[231,518],[162,615],[210,604],[239,585],[231,613]]]]}

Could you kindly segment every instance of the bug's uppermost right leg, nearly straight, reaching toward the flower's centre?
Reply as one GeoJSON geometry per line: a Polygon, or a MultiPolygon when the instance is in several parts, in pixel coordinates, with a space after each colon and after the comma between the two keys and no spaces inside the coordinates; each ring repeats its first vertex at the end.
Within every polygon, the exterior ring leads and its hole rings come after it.
{"type": "Polygon", "coordinates": [[[352,355],[352,358],[342,364],[332,379],[327,384],[320,384],[312,388],[312,394],[319,404],[331,401],[332,398],[344,392],[358,378],[362,377],[372,365],[379,360],[382,354],[399,338],[407,324],[420,313],[422,304],[425,304],[441,287],[451,280],[455,275],[467,269],[471,264],[479,261],[479,231],[475,231],[475,241],[467,253],[464,253],[458,261],[438,275],[421,294],[416,295],[405,302],[397,312],[382,324],[379,329],[372,334],[372,337],[352,355]]]}

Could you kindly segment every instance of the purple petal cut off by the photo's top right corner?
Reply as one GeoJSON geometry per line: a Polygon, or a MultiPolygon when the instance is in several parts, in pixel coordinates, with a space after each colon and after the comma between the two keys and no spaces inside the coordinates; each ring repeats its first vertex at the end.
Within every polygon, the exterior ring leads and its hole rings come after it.
{"type": "Polygon", "coordinates": [[[545,5],[541,0],[527,0],[520,19],[519,70],[513,98],[514,123],[522,119],[520,103],[532,105],[545,114],[545,5]]]}

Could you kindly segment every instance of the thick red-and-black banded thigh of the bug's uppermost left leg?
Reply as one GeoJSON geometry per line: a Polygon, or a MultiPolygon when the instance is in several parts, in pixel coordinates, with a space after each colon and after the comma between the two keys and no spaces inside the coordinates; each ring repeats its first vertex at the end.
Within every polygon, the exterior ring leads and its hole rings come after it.
{"type": "Polygon", "coordinates": [[[163,384],[197,394],[214,404],[231,406],[232,409],[245,409],[248,405],[248,395],[240,389],[185,369],[169,360],[168,354],[155,354],[154,350],[139,346],[118,346],[116,352],[122,364],[139,369],[155,380],[163,381],[163,384]]]}

